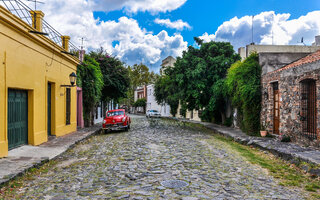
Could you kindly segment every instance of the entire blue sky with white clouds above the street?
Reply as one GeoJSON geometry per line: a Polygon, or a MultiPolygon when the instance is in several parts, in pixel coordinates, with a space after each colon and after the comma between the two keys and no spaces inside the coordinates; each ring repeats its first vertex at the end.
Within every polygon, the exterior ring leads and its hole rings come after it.
{"type": "Polygon", "coordinates": [[[77,46],[83,37],[87,50],[103,47],[155,72],[167,56],[194,45],[195,36],[235,50],[249,44],[251,15],[256,44],[298,44],[304,37],[311,45],[320,35],[319,0],[50,0],[39,7],[77,46]]]}

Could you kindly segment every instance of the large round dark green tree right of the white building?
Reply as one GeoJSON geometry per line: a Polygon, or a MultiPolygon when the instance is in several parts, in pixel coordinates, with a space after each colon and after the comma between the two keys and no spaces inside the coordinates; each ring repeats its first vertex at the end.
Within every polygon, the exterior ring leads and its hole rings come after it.
{"type": "Polygon", "coordinates": [[[227,69],[240,56],[228,42],[205,43],[199,38],[195,41],[200,48],[189,46],[182,57],[177,58],[174,72],[169,75],[174,80],[171,87],[179,88],[176,95],[182,107],[203,110],[202,119],[221,122],[225,118],[225,98],[220,86],[227,69]]]}

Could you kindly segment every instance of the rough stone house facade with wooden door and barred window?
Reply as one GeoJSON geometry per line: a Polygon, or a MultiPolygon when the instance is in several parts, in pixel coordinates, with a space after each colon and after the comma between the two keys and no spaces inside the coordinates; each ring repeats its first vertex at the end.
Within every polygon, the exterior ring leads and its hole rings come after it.
{"type": "Polygon", "coordinates": [[[263,75],[262,88],[268,132],[320,147],[320,50],[263,75]]]}

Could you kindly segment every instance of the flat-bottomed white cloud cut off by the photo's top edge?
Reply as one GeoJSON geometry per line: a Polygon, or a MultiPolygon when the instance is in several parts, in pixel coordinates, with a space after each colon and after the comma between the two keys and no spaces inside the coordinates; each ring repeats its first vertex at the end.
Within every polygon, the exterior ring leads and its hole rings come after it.
{"type": "Polygon", "coordinates": [[[95,10],[110,11],[125,9],[127,12],[170,12],[181,7],[187,0],[91,0],[95,10]]]}

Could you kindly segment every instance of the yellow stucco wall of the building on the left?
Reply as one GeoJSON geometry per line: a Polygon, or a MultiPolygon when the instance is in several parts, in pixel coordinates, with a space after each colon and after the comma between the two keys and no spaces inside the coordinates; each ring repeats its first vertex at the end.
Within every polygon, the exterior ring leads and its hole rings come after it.
{"type": "Polygon", "coordinates": [[[47,137],[47,84],[52,83],[52,135],[76,131],[76,88],[71,88],[71,124],[66,125],[66,88],[78,59],[48,38],[29,33],[32,28],[0,6],[0,157],[8,154],[7,92],[28,91],[28,143],[47,137]]]}

